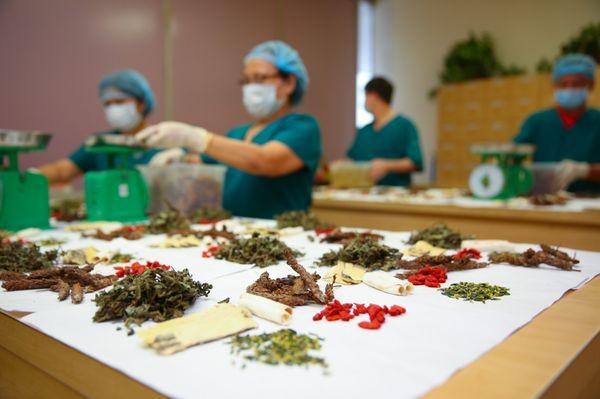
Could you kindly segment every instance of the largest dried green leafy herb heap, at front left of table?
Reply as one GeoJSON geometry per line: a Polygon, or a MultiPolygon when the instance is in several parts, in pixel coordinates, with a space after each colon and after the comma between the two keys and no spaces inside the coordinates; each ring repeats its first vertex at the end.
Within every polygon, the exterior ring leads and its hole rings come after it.
{"type": "Polygon", "coordinates": [[[186,270],[148,269],[128,275],[110,291],[96,295],[94,321],[123,319],[125,325],[180,317],[199,296],[207,296],[212,285],[194,281],[186,270]]]}

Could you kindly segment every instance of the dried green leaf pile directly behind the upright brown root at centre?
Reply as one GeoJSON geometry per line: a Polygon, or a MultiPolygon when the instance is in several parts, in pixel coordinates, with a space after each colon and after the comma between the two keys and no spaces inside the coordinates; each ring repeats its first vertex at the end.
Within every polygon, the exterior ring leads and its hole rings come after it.
{"type": "Polygon", "coordinates": [[[303,255],[275,237],[255,233],[250,238],[239,238],[223,245],[215,254],[215,258],[266,267],[286,260],[286,249],[292,251],[294,256],[303,255]]]}

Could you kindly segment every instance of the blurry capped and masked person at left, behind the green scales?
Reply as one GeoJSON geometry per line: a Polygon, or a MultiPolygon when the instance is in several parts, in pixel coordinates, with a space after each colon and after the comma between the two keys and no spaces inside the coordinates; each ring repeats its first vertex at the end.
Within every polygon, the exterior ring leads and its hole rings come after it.
{"type": "MultiPolygon", "coordinates": [[[[106,121],[111,127],[103,134],[134,135],[148,126],[148,115],[154,109],[154,94],[142,74],[132,69],[106,75],[98,86],[98,97],[104,107],[106,121]]],[[[181,149],[159,153],[149,150],[131,157],[130,164],[165,164],[182,155],[181,149]]],[[[106,154],[86,152],[80,146],[67,158],[59,159],[38,168],[50,184],[68,184],[88,171],[104,170],[108,167],[106,154]]]]}

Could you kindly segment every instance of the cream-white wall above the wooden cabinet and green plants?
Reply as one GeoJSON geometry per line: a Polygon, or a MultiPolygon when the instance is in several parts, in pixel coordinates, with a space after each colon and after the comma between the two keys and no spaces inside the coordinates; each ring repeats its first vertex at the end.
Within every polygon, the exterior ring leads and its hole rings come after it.
{"type": "MultiPolygon", "coordinates": [[[[375,72],[395,83],[394,107],[417,124],[429,167],[437,125],[427,92],[455,41],[488,31],[501,61],[533,71],[541,57],[553,58],[567,38],[599,20],[600,0],[378,0],[375,72]]],[[[426,171],[417,181],[428,177],[426,171]]]]}

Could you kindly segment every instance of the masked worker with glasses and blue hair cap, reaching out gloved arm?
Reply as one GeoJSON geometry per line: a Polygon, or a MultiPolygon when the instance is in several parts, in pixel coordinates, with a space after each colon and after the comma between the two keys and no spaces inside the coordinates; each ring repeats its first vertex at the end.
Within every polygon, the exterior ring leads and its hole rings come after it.
{"type": "Polygon", "coordinates": [[[162,122],[137,134],[155,148],[184,147],[205,163],[228,166],[223,207],[237,216],[272,218],[311,204],[321,158],[315,118],[292,112],[306,92],[308,73],[286,43],[267,41],[244,58],[242,98],[252,122],[225,136],[180,122],[162,122]]]}

